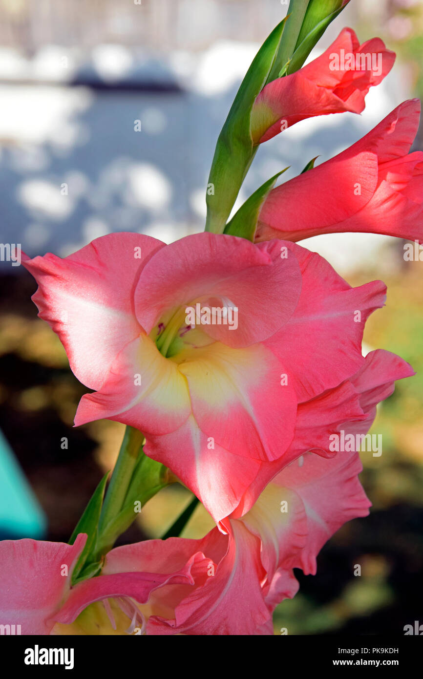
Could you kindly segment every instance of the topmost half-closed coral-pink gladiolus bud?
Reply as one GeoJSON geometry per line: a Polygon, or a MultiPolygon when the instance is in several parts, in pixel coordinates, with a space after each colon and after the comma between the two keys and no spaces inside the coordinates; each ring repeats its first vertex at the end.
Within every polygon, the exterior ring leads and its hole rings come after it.
{"type": "Polygon", "coordinates": [[[314,115],[361,113],[367,92],[388,75],[394,60],[380,38],[360,45],[352,29],[343,29],[321,56],[261,90],[251,112],[254,143],[314,115]]]}

